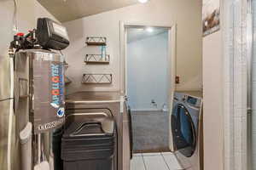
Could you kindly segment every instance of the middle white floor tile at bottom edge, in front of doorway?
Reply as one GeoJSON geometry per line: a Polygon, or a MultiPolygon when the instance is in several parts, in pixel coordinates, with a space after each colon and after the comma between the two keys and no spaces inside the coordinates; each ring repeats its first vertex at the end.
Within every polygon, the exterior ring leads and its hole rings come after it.
{"type": "Polygon", "coordinates": [[[163,156],[143,156],[147,170],[168,170],[163,156]]]}

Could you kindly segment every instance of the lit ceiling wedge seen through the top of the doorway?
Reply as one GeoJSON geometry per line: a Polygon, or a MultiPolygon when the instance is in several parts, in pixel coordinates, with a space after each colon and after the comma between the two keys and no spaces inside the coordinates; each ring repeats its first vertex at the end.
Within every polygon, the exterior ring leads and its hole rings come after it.
{"type": "Polygon", "coordinates": [[[134,42],[138,40],[142,40],[147,37],[155,36],[160,33],[164,33],[168,31],[167,28],[160,28],[160,27],[150,27],[148,28],[128,28],[127,29],[127,42],[134,42]]]}

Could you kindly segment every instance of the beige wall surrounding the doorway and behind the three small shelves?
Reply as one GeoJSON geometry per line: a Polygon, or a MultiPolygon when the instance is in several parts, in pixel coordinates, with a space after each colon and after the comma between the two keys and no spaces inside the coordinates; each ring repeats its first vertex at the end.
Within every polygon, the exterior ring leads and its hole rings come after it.
{"type": "Polygon", "coordinates": [[[149,3],[119,8],[64,23],[71,45],[64,53],[70,64],[67,77],[73,80],[68,93],[79,90],[120,90],[119,21],[172,26],[177,23],[177,75],[180,90],[201,88],[201,0],[151,0],[149,3]],[[97,54],[99,48],[85,47],[86,37],[108,38],[110,65],[84,65],[85,54],[97,54]],[[88,86],[81,84],[84,72],[113,73],[113,84],[88,86]]]}

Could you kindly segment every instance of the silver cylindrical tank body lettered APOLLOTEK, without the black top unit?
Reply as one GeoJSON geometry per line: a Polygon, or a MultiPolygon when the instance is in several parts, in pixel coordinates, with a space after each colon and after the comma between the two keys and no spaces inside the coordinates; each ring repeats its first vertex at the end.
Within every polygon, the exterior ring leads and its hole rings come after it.
{"type": "Polygon", "coordinates": [[[63,56],[42,49],[15,54],[15,139],[19,170],[59,170],[64,123],[63,56]]]}

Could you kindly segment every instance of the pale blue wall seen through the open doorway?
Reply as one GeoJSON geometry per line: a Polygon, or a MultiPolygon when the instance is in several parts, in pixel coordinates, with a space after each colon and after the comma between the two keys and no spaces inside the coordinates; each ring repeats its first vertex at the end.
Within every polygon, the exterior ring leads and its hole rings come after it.
{"type": "Polygon", "coordinates": [[[127,93],[131,110],[160,110],[167,105],[167,67],[171,65],[167,63],[167,52],[167,31],[128,43],[127,93]],[[152,99],[157,107],[151,104],[152,99]]]}

